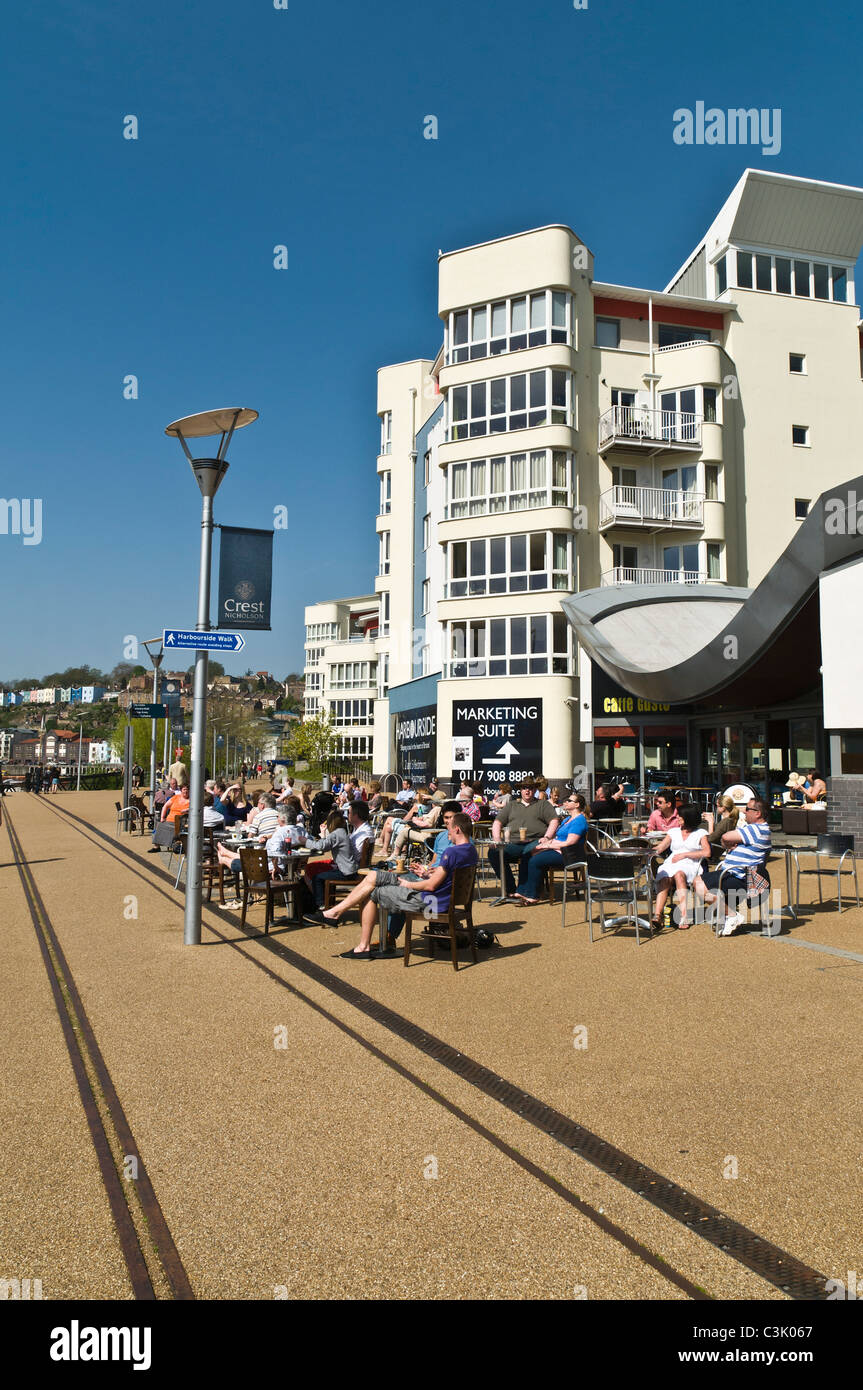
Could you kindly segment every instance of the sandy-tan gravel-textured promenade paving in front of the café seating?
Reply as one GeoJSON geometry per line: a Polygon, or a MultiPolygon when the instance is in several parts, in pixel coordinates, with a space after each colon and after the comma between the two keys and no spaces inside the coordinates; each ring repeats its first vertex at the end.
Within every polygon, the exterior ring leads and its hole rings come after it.
{"type": "MultiPolygon", "coordinates": [[[[350,920],[267,942],[208,908],[203,945],[185,948],[182,892],[149,838],[114,840],[114,801],[4,801],[26,867],[4,824],[0,1277],[42,1279],[44,1298],[133,1297],[43,917],[197,1298],[787,1297],[339,983],[812,1270],[857,1268],[863,910],[837,916],[835,881],[780,938],[700,926],[641,948],[591,945],[581,902],[566,930],[559,905],[479,903],[500,949],[457,974],[422,948],[407,970],[400,954],[340,959],[350,920]]],[[[117,1134],[111,1148],[129,1184],[117,1134]]]]}

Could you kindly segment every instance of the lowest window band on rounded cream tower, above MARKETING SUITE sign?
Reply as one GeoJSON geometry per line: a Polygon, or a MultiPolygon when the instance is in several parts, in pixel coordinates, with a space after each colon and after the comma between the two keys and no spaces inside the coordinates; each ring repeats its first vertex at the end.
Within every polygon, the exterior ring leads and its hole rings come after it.
{"type": "Polygon", "coordinates": [[[450,623],[446,676],[567,676],[570,626],[563,613],[450,623]]]}

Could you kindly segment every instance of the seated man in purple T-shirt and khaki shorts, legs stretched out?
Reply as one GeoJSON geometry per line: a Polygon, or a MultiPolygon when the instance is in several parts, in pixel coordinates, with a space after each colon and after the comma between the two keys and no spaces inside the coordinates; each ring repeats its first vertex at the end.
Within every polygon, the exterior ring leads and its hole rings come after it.
{"type": "Polygon", "coordinates": [[[452,816],[447,838],[449,848],[443,851],[441,863],[425,878],[425,887],[417,888],[416,880],[400,878],[385,869],[372,869],[335,908],[324,912],[324,919],[336,923],[346,912],[361,903],[360,941],[353,951],[345,951],[349,960],[371,958],[371,934],[378,916],[378,905],[389,912],[431,912],[432,916],[449,909],[453,874],[456,869],[477,863],[477,847],[471,838],[471,821],[461,812],[452,816]]]}

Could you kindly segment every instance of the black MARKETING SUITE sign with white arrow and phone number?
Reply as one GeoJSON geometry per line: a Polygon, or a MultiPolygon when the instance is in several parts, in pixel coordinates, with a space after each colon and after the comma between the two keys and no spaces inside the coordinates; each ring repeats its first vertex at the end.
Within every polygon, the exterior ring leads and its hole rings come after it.
{"type": "Polygon", "coordinates": [[[481,787],[542,771],[542,701],[453,701],[453,780],[481,787]]]}

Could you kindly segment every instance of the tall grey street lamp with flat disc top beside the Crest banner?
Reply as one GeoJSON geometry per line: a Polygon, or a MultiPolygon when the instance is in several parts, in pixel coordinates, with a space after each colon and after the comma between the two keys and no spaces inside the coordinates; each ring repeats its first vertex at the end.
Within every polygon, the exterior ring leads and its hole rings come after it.
{"type": "MultiPolygon", "coordinates": [[[[213,567],[213,498],[228,471],[228,445],[235,430],[257,420],[257,410],[232,406],[227,410],[203,410],[167,425],[165,434],[179,439],[192,464],[195,481],[202,495],[200,569],[197,580],[196,631],[210,631],[210,573],[213,567]],[[208,439],[221,435],[214,459],[193,459],[186,439],[208,439]]],[[[195,695],[192,713],[192,758],[189,767],[189,838],[186,853],[186,906],[183,915],[183,942],[200,945],[202,913],[202,851],[204,820],[204,748],[207,728],[207,652],[195,653],[195,695]]]]}

